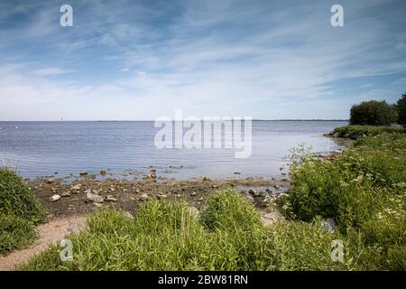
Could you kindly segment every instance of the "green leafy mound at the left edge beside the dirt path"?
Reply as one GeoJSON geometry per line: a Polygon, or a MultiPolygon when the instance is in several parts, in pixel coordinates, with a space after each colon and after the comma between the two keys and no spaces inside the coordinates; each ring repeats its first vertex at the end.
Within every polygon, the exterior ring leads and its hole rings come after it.
{"type": "Polygon", "coordinates": [[[0,169],[0,255],[31,243],[35,225],[44,219],[44,210],[21,177],[0,169]]]}

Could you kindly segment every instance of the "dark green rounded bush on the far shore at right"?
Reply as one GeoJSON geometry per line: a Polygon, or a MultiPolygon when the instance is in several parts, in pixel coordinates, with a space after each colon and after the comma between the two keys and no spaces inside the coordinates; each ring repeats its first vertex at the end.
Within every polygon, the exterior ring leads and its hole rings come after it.
{"type": "Polygon", "coordinates": [[[350,110],[351,125],[389,126],[396,120],[396,109],[385,101],[364,101],[350,110]]]}

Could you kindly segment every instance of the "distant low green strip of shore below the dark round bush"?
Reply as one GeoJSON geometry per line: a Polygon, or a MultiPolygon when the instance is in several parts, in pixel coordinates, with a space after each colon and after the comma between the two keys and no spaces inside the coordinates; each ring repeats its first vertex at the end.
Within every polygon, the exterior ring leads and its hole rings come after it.
{"type": "Polygon", "coordinates": [[[331,135],[335,135],[336,137],[357,139],[363,135],[381,135],[383,133],[406,134],[406,128],[392,126],[340,126],[335,128],[331,135]]]}

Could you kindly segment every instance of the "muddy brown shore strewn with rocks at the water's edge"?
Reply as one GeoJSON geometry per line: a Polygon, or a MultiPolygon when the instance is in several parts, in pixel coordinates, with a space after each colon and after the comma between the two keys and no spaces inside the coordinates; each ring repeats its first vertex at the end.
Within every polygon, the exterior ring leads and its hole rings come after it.
{"type": "Polygon", "coordinates": [[[179,181],[157,176],[152,169],[141,180],[97,179],[82,172],[73,182],[65,182],[64,178],[37,178],[25,182],[48,210],[50,219],[83,215],[102,206],[116,206],[133,213],[138,204],[154,199],[184,200],[200,210],[208,195],[228,188],[240,191],[266,214],[274,209],[272,200],[289,189],[289,176],[282,171],[284,168],[281,168],[280,176],[269,178],[202,177],[179,181]]]}

